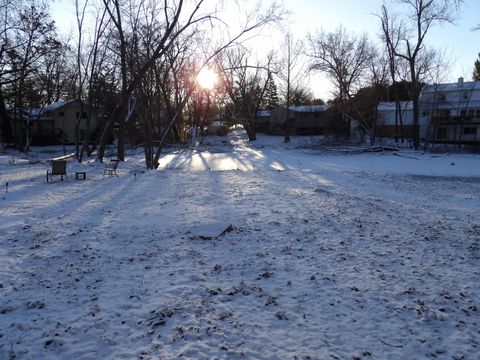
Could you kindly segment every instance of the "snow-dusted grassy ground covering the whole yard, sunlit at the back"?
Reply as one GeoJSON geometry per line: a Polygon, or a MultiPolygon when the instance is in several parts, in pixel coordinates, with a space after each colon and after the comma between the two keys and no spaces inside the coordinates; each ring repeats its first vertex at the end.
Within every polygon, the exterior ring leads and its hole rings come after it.
{"type": "Polygon", "coordinates": [[[0,155],[0,358],[480,358],[479,155],[222,141],[0,155]]]}

